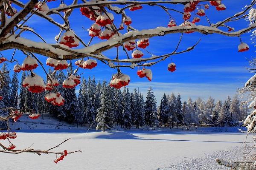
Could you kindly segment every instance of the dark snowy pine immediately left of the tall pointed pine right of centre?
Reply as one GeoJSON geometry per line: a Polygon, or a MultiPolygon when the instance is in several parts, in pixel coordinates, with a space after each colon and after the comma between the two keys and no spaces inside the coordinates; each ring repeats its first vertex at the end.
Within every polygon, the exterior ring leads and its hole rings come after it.
{"type": "Polygon", "coordinates": [[[134,124],[136,125],[136,128],[138,129],[139,126],[145,125],[145,111],[144,111],[144,99],[143,95],[139,94],[140,90],[139,88],[137,91],[134,91],[134,124]]]}

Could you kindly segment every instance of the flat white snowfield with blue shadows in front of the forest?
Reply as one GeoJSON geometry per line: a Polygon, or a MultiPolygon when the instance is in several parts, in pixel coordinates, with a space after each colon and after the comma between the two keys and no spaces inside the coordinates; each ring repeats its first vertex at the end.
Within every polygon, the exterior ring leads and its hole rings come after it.
{"type": "MultiPolygon", "coordinates": [[[[246,134],[221,132],[179,132],[130,130],[95,132],[81,130],[20,130],[17,148],[57,148],[73,153],[55,164],[54,155],[0,153],[2,170],[229,170],[216,158],[242,160],[238,151],[246,134]],[[72,133],[74,132],[74,133],[72,133]]],[[[6,142],[6,141],[5,141],[6,142]]]]}

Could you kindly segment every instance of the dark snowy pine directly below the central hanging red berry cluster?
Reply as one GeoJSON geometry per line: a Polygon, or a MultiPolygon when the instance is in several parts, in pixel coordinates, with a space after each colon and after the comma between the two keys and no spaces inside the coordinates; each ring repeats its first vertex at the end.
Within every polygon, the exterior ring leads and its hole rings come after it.
{"type": "Polygon", "coordinates": [[[123,105],[122,102],[125,102],[122,96],[122,92],[120,89],[114,90],[115,97],[114,97],[114,115],[116,120],[116,125],[122,124],[123,119],[123,105]]]}

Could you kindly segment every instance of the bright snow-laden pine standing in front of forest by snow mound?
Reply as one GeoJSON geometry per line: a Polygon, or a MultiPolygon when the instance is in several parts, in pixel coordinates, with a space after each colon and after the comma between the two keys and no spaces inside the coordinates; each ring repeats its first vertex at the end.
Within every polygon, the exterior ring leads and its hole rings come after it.
{"type": "Polygon", "coordinates": [[[108,111],[109,108],[109,100],[108,100],[108,91],[106,87],[106,82],[102,83],[102,94],[100,96],[100,108],[97,110],[96,122],[98,123],[96,126],[96,130],[109,130],[112,127],[112,118],[108,111]]]}

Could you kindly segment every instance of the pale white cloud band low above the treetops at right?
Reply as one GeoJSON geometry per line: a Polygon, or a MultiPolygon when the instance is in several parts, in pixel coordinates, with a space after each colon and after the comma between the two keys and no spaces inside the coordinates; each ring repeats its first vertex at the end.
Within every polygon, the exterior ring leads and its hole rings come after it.
{"type": "Polygon", "coordinates": [[[182,101],[186,101],[189,97],[193,100],[198,97],[207,99],[209,96],[215,100],[224,100],[228,95],[231,97],[236,94],[237,88],[241,88],[243,83],[169,83],[169,82],[133,82],[130,83],[128,88],[130,91],[134,88],[140,88],[144,97],[146,96],[149,87],[153,88],[154,94],[159,104],[163,94],[177,95],[180,93],[182,101]]]}

